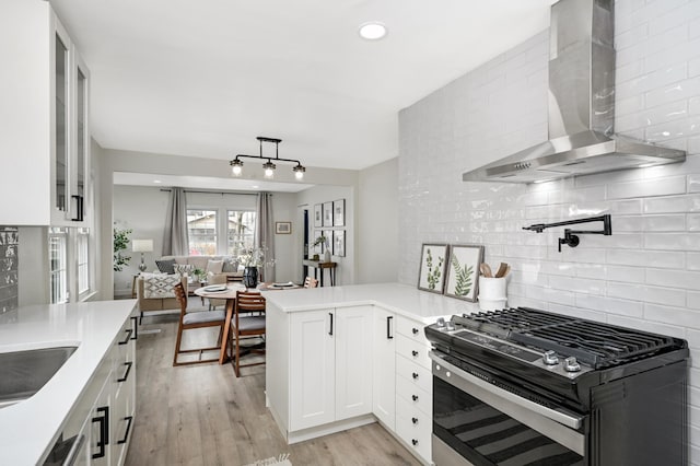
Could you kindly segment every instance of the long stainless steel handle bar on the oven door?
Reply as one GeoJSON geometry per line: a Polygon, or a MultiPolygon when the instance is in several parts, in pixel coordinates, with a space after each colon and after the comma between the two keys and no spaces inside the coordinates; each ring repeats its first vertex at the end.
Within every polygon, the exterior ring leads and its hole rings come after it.
{"type": "MultiPolygon", "coordinates": [[[[547,408],[546,406],[542,406],[538,403],[535,401],[530,401],[527,398],[523,398],[521,396],[517,396],[511,392],[508,392],[503,388],[499,388],[498,386],[490,384],[489,382],[486,382],[475,375],[469,374],[468,372],[465,372],[464,370],[446,362],[445,360],[443,360],[442,358],[440,358],[439,356],[436,356],[433,351],[430,351],[430,359],[433,360],[434,364],[440,365],[441,368],[445,369],[445,371],[452,372],[454,373],[454,375],[457,375],[459,377],[462,377],[464,381],[466,381],[467,383],[471,384],[471,385],[476,385],[478,387],[480,387],[481,389],[489,392],[500,398],[506,399],[509,401],[511,401],[514,405],[517,405],[522,408],[528,409],[530,411],[535,411],[548,419],[551,419],[552,421],[557,421],[561,424],[564,424],[571,429],[579,429],[581,427],[581,424],[583,423],[583,417],[581,416],[575,416],[573,413],[567,412],[564,410],[561,409],[551,409],[551,408],[547,408]]],[[[446,373],[441,373],[440,371],[436,373],[435,372],[435,365],[433,364],[433,373],[435,375],[438,375],[440,378],[444,380],[445,382],[450,382],[448,378],[445,378],[446,373]]]]}

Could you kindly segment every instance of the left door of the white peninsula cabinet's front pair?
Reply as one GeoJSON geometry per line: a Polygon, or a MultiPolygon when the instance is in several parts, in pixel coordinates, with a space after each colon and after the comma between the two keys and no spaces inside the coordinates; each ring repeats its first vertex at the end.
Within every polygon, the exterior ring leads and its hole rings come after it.
{"type": "Polygon", "coordinates": [[[290,325],[290,430],[336,418],[334,310],[293,313],[290,325]]]}

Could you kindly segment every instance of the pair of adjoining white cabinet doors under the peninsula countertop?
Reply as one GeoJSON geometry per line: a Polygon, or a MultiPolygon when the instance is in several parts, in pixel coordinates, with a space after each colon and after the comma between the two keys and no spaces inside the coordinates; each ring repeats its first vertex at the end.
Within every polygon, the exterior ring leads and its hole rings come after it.
{"type": "Polygon", "coordinates": [[[372,412],[372,307],[290,317],[290,431],[372,412]]]}

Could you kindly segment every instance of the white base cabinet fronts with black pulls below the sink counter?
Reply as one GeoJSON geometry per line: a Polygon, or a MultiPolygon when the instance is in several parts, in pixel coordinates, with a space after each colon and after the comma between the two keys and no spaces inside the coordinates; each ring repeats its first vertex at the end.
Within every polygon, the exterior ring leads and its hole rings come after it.
{"type": "Polygon", "coordinates": [[[128,318],[85,387],[47,463],[122,465],[136,408],[136,318],[128,318]]]}

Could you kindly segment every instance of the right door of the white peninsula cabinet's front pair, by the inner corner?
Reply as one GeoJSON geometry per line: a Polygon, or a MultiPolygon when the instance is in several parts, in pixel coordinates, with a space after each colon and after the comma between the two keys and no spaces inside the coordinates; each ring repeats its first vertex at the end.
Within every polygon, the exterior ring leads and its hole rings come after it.
{"type": "Polygon", "coordinates": [[[336,420],[372,412],[372,306],[336,310],[336,420]]]}

